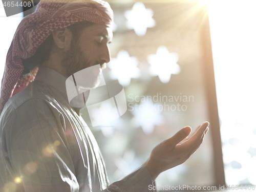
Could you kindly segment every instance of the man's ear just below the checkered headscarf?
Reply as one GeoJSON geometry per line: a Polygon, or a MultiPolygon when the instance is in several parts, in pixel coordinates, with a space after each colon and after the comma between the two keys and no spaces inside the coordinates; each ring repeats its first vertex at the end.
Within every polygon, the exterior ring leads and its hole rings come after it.
{"type": "Polygon", "coordinates": [[[72,33],[67,27],[54,30],[52,35],[55,46],[57,48],[63,49],[64,51],[69,50],[69,46],[72,40],[72,33]]]}

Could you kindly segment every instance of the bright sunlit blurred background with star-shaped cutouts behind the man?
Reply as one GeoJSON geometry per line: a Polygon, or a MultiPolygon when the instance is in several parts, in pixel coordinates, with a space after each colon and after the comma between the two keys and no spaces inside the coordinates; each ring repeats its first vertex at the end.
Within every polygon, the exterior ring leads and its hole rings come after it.
{"type": "MultiPolygon", "coordinates": [[[[103,75],[106,83],[122,84],[127,111],[96,127],[87,109],[81,113],[101,148],[110,182],[137,169],[155,145],[182,127],[195,130],[209,121],[197,152],[162,173],[156,184],[256,185],[256,2],[107,2],[115,25],[112,61],[103,75]]],[[[33,9],[10,17],[3,6],[0,11],[2,77],[16,27],[33,9]]]]}

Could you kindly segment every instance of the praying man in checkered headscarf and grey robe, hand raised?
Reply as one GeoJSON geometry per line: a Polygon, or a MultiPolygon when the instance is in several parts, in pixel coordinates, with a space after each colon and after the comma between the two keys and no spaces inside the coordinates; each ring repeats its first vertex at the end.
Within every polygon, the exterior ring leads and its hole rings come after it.
{"type": "MultiPolygon", "coordinates": [[[[110,61],[112,24],[109,4],[99,0],[41,1],[18,26],[1,89],[1,191],[151,191],[161,172],[185,162],[202,143],[209,123],[189,138],[186,126],[159,143],[135,172],[109,185],[97,142],[70,106],[65,82],[110,61]],[[35,80],[12,96],[20,74],[37,66],[35,80]]],[[[95,86],[95,79],[88,82],[95,86]]]]}

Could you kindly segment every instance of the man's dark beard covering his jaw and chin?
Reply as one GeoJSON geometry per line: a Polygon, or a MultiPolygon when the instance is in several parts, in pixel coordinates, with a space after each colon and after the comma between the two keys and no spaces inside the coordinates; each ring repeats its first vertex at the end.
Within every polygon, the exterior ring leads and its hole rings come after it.
{"type": "MultiPolygon", "coordinates": [[[[98,63],[95,63],[95,65],[98,63]]],[[[83,55],[80,47],[78,46],[78,40],[72,39],[70,49],[66,51],[61,61],[62,71],[66,77],[73,75],[74,73],[83,69],[94,66],[93,63],[89,62],[87,55],[83,55]]],[[[96,67],[96,66],[95,66],[96,67]]],[[[76,81],[79,82],[77,86],[84,89],[92,89],[97,87],[100,82],[99,75],[102,70],[99,68],[90,68],[84,71],[79,76],[76,76],[76,81]]]]}

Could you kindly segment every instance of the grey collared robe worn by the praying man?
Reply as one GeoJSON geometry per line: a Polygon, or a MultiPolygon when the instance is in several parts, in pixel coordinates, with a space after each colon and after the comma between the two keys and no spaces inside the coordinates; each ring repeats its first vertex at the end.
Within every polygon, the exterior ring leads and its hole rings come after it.
{"type": "Polygon", "coordinates": [[[109,185],[98,144],[69,105],[66,79],[40,67],[35,80],[5,104],[0,191],[150,191],[152,178],[144,166],[109,185]]]}

